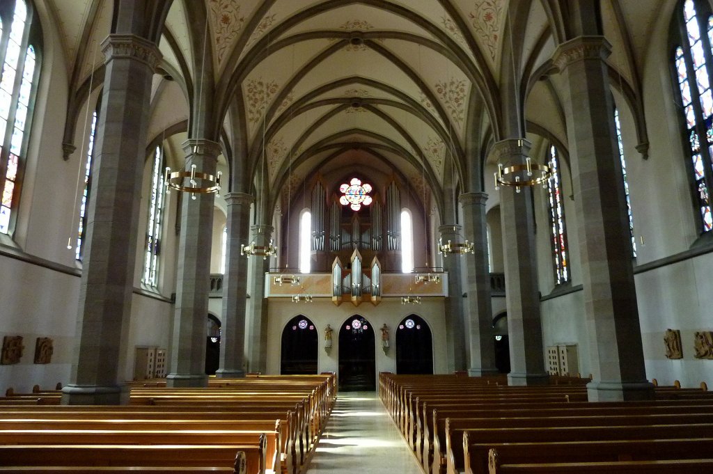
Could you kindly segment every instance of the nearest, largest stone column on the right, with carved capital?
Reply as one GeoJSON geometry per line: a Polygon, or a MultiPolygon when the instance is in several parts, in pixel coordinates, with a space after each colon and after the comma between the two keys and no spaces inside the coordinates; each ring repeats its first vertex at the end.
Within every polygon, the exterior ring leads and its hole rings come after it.
{"type": "MultiPolygon", "coordinates": [[[[567,85],[568,141],[593,381],[590,401],[650,398],[632,269],[603,36],[561,44],[553,62],[567,85]]],[[[509,289],[508,289],[509,291],[509,289]]]]}

